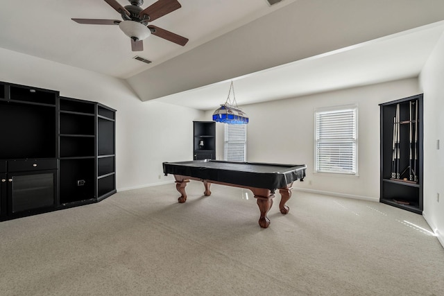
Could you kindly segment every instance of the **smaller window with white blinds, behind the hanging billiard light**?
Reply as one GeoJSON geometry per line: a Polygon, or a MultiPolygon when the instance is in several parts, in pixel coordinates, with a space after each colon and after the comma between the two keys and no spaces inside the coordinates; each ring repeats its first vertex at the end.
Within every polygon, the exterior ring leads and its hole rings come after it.
{"type": "Polygon", "coordinates": [[[223,159],[229,162],[246,162],[247,125],[225,124],[223,159]]]}

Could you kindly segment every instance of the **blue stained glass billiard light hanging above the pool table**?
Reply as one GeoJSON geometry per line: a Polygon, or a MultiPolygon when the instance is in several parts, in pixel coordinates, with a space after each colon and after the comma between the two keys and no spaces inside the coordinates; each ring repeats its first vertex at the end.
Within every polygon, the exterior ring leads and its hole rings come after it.
{"type": "Polygon", "coordinates": [[[234,96],[234,86],[231,82],[228,98],[213,113],[213,121],[228,124],[248,124],[248,116],[237,107],[236,97],[234,96]],[[231,90],[233,91],[233,101],[230,100],[231,90]]]}

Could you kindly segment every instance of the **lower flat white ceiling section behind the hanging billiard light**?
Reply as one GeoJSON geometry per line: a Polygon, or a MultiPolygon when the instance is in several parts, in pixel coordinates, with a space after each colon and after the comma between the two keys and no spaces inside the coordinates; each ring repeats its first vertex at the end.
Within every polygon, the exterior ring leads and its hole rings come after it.
{"type": "Polygon", "coordinates": [[[246,105],[413,78],[420,73],[443,32],[444,21],[441,21],[159,100],[214,110],[227,99],[231,81],[237,103],[246,105]]]}

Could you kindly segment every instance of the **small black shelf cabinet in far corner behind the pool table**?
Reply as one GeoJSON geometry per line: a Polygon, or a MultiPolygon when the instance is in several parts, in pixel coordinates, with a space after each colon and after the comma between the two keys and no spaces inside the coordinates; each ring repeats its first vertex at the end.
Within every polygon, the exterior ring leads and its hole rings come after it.
{"type": "Polygon", "coordinates": [[[197,159],[216,159],[216,123],[193,121],[193,154],[197,159]]]}

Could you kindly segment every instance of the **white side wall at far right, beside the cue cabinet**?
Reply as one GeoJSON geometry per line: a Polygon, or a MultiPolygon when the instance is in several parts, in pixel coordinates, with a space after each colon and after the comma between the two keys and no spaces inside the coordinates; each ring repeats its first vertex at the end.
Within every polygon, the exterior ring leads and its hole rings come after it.
{"type": "Polygon", "coordinates": [[[444,35],[420,74],[424,92],[424,212],[444,246],[444,35]],[[436,141],[440,140],[437,149],[436,141]],[[438,202],[437,194],[440,195],[438,202]]]}

